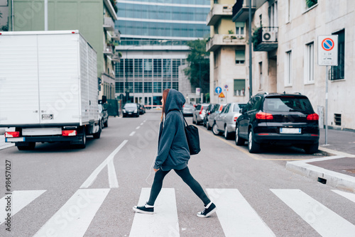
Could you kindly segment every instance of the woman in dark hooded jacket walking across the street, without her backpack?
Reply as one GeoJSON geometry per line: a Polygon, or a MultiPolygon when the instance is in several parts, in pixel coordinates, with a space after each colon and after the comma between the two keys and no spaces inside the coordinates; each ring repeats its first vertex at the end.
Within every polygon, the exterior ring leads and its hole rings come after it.
{"type": "Polygon", "coordinates": [[[133,206],[133,210],[144,214],[154,214],[155,199],[163,187],[165,175],[174,170],[182,180],[204,203],[204,209],[197,213],[199,217],[207,217],[216,211],[216,206],[204,193],[199,182],[190,174],[187,162],[190,151],[185,136],[185,123],[182,117],[184,96],[175,89],[165,89],[162,99],[162,116],[158,138],[158,155],[154,164],[154,181],[151,195],[144,206],[133,206]]]}

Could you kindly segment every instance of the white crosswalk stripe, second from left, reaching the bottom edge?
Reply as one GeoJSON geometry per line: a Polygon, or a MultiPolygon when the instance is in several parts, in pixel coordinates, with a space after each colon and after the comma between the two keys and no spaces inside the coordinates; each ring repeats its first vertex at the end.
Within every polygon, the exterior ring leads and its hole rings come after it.
{"type": "Polygon", "coordinates": [[[33,237],[84,236],[110,189],[79,189],[33,237]]]}

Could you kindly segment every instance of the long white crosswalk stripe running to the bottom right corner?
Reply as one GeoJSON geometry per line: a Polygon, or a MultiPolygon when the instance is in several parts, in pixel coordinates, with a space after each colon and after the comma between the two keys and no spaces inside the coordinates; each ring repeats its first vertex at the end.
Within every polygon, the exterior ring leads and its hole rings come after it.
{"type": "Polygon", "coordinates": [[[354,237],[355,226],[300,189],[271,189],[323,237],[354,237]]]}

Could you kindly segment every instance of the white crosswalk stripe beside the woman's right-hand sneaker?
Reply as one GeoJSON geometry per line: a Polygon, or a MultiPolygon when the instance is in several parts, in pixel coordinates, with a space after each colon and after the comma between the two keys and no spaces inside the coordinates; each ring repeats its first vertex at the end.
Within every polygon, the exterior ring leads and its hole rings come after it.
{"type": "Polygon", "coordinates": [[[275,236],[238,189],[207,189],[226,237],[275,236]]]}

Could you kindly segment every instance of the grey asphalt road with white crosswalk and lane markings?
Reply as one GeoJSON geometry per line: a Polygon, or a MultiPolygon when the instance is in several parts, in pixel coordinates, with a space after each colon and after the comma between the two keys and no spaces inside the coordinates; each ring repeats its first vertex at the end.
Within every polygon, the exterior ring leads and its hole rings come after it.
{"type": "Polygon", "coordinates": [[[287,160],[322,154],[266,147],[251,155],[203,126],[202,151],[189,168],[217,214],[198,218],[202,202],[175,172],[165,177],[156,214],[135,214],[132,206],[144,204],[153,182],[159,118],[159,111],[109,118],[84,150],[60,143],[0,150],[0,236],[354,236],[351,196],[285,170],[287,160]]]}

